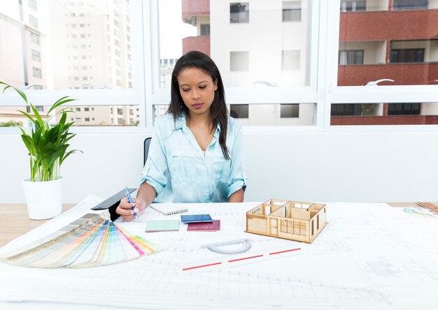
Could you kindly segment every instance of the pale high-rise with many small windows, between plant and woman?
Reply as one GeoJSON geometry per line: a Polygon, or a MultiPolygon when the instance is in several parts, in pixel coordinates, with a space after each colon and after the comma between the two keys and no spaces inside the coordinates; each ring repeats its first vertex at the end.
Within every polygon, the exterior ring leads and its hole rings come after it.
{"type": "MultiPolygon", "coordinates": [[[[129,1],[50,0],[56,89],[132,88],[129,1]]],[[[134,103],[133,103],[134,104],[134,103]]],[[[136,125],[136,105],[77,106],[77,126],[136,125]]]]}

